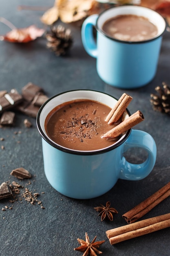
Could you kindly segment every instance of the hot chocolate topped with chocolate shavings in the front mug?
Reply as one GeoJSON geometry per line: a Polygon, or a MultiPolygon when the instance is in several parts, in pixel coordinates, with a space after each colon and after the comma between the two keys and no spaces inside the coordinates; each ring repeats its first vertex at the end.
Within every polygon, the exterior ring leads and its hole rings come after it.
{"type": "Polygon", "coordinates": [[[105,118],[110,108],[97,101],[76,100],[54,108],[46,117],[47,135],[57,144],[74,150],[97,150],[115,141],[102,139],[109,125],[105,118]]]}

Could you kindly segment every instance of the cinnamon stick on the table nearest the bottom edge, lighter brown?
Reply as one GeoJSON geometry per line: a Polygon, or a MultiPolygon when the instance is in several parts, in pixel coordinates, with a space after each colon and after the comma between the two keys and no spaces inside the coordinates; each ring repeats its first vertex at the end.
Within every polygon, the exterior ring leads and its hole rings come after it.
{"type": "Polygon", "coordinates": [[[143,236],[166,227],[170,227],[170,213],[107,230],[106,235],[109,238],[110,244],[114,245],[116,243],[120,243],[138,236],[143,236]]]}

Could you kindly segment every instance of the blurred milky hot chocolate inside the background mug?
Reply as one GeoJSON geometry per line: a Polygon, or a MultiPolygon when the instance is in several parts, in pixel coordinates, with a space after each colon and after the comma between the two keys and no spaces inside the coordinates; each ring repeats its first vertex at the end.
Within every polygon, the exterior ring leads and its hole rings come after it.
{"type": "Polygon", "coordinates": [[[154,38],[158,32],[157,27],[147,18],[131,14],[110,18],[102,29],[108,36],[131,42],[154,38]]]}

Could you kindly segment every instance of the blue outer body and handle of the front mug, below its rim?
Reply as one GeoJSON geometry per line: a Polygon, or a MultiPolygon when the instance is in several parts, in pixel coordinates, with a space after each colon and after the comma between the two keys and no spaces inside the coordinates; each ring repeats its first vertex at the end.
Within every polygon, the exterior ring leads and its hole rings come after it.
{"type": "Polygon", "coordinates": [[[102,154],[77,155],[53,147],[42,138],[44,171],[49,183],[71,198],[95,198],[109,191],[119,178],[141,180],[155,165],[156,145],[146,132],[132,130],[128,139],[113,150],[102,154]],[[123,153],[131,147],[147,150],[142,164],[131,164],[123,153]]]}

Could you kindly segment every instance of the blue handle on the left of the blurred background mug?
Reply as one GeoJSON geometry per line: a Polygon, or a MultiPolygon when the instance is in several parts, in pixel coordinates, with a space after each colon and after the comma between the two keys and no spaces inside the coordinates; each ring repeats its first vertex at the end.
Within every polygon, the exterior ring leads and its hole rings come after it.
{"type": "Polygon", "coordinates": [[[97,45],[93,36],[93,26],[96,25],[98,14],[86,18],[82,24],[82,43],[86,52],[93,58],[97,58],[97,45]]]}

